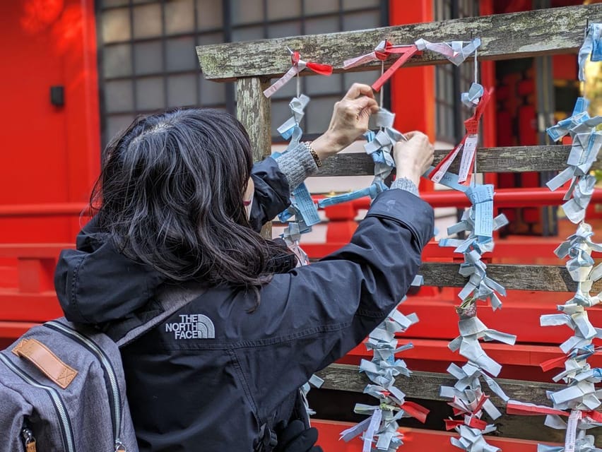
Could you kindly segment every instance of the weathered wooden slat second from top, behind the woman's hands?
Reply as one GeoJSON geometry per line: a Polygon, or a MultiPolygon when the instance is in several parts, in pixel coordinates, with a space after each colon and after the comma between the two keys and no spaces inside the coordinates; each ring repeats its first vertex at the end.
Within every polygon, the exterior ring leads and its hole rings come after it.
{"type": "MultiPolygon", "coordinates": [[[[571,148],[565,145],[513,146],[509,148],[479,148],[478,172],[562,171],[567,167],[571,148]]],[[[449,150],[435,150],[435,162],[442,160],[449,150]]],[[[460,156],[451,164],[450,171],[458,173],[460,156]]],[[[594,169],[602,169],[602,160],[594,162],[594,169]]],[[[365,153],[346,153],[329,157],[315,174],[326,176],[370,176],[374,162],[365,153]]]]}

